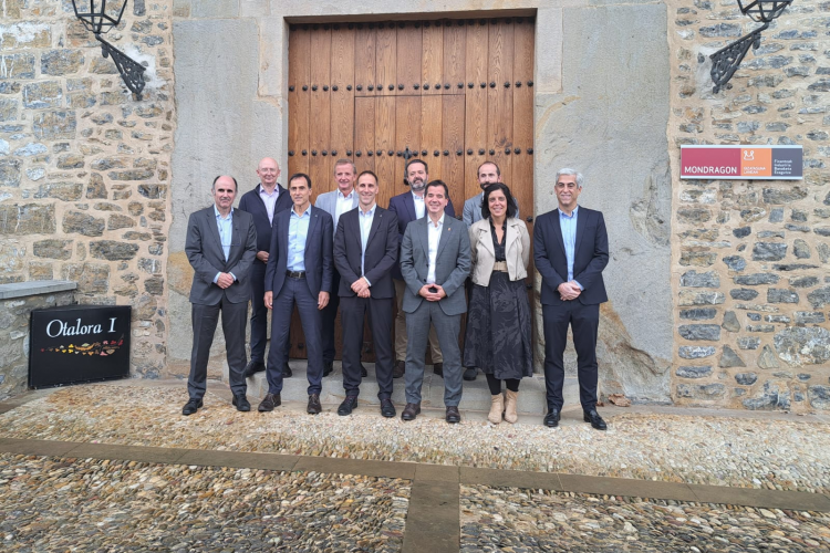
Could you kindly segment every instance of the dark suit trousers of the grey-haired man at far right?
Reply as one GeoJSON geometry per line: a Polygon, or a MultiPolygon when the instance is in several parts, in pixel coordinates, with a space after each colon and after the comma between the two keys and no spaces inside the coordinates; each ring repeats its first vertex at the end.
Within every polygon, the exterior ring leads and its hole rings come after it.
{"type": "Polygon", "coordinates": [[[596,333],[600,326],[600,304],[583,305],[579,300],[560,305],[542,305],[544,326],[544,387],[548,410],[562,409],[562,385],[564,384],[564,346],[568,342],[568,325],[573,331],[577,349],[577,376],[579,400],[583,410],[596,407],[596,333]]]}

